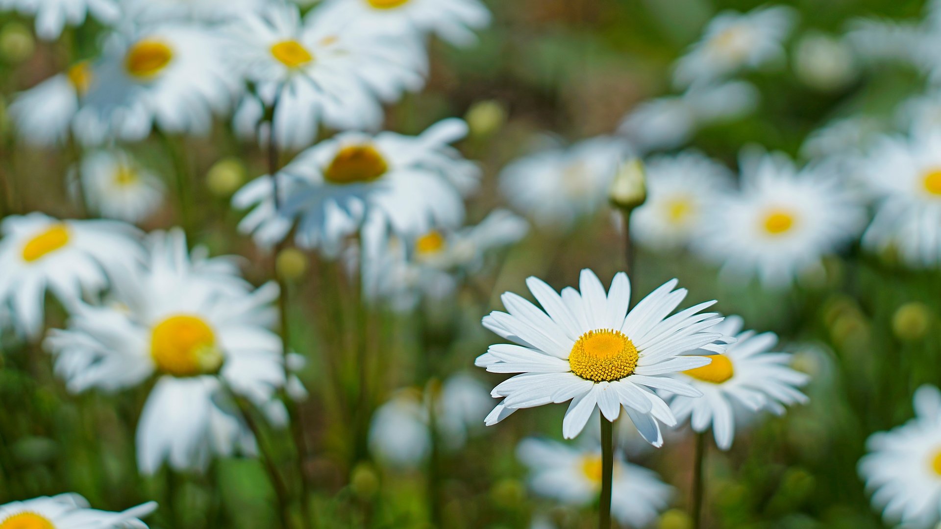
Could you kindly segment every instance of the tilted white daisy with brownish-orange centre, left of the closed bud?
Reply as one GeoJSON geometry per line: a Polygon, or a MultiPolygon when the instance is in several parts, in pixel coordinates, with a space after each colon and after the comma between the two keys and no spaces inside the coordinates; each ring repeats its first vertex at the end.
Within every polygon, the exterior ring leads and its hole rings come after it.
{"type": "Polygon", "coordinates": [[[239,229],[270,247],[290,232],[296,219],[299,247],[336,255],[343,239],[367,218],[404,239],[435,226],[455,227],[464,219],[462,193],[480,176],[475,164],[448,145],[466,134],[464,121],[452,119],[420,136],[333,136],[298,154],[278,173],[280,211],[275,212],[267,175],[236,193],[235,207],[253,207],[239,229]]]}

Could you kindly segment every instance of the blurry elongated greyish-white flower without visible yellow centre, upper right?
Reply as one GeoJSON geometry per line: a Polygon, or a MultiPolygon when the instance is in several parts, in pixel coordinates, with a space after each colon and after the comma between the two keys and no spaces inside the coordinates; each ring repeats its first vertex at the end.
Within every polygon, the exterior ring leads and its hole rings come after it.
{"type": "Polygon", "coordinates": [[[672,149],[688,142],[701,127],[742,118],[757,104],[758,89],[750,83],[697,84],[682,95],[637,105],[618,132],[641,152],[672,149]]]}

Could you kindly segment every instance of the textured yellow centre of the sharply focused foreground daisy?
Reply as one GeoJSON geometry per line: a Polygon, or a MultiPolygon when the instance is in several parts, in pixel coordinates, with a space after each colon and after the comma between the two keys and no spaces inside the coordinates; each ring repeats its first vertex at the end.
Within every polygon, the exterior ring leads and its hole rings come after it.
{"type": "Polygon", "coordinates": [[[637,367],[637,347],[619,330],[589,330],[572,345],[572,373],[596,382],[620,380],[637,367]]]}

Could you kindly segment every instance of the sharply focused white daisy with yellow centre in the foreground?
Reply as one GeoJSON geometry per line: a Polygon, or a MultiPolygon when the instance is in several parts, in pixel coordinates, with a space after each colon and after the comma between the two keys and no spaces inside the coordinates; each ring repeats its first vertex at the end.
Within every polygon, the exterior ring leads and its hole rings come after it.
{"type": "Polygon", "coordinates": [[[683,356],[703,347],[722,352],[713,344],[723,337],[710,330],[722,318],[699,313],[714,301],[670,315],[686,297],[668,281],[628,312],[630,281],[614,276],[605,295],[598,276],[582,270],[581,293],[566,287],[560,297],[543,281],[526,283],[545,312],[523,297],[505,293],[509,313],[484,317],[484,327],[518,345],[490,345],[477,358],[478,366],[492,373],[519,373],[490,394],[506,397],[486,418],[494,425],[521,408],[533,408],[571,399],[562,433],[572,439],[582,431],[597,407],[614,422],[623,407],[647,442],[662,445],[661,422],[677,421],[653,390],[700,396],[693,386],[669,374],[710,362],[701,356],[683,356]]]}

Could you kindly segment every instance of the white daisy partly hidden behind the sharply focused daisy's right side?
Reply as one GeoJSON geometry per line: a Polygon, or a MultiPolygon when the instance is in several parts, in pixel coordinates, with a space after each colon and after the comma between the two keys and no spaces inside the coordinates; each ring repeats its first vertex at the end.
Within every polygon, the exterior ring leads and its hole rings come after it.
{"type": "Polygon", "coordinates": [[[680,422],[692,417],[693,429],[705,432],[712,426],[716,445],[722,450],[732,446],[736,414],[753,415],[762,409],[777,415],[785,405],[805,404],[807,397],[797,390],[810,379],[789,367],[791,355],[769,352],[777,343],[774,332],[756,334],[742,331],[742,318],[729,316],[712,328],[736,339],[723,354],[713,355],[712,363],[675,375],[703,393],[690,398],[677,395],[670,409],[680,422]]]}

